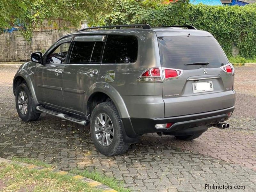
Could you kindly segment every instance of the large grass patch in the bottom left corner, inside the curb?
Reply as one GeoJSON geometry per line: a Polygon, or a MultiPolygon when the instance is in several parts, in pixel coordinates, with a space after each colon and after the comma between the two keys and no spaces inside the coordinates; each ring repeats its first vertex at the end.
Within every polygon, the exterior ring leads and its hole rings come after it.
{"type": "Polygon", "coordinates": [[[60,175],[56,172],[28,169],[18,164],[0,164],[0,179],[5,178],[6,191],[33,188],[33,191],[85,191],[100,192],[91,188],[87,183],[72,178],[69,175],[60,175]]]}

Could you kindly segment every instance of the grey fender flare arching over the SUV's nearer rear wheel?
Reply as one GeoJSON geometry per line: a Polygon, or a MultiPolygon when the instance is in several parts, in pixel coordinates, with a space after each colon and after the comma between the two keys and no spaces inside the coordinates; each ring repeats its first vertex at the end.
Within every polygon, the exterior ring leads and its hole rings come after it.
{"type": "Polygon", "coordinates": [[[105,82],[98,82],[98,83],[92,84],[90,86],[90,88],[87,90],[87,92],[85,93],[84,112],[85,112],[86,116],[90,115],[89,110],[88,110],[89,106],[87,106],[88,99],[95,92],[102,92],[102,93],[105,93],[106,95],[108,95],[108,97],[114,102],[120,118],[129,118],[130,117],[128,110],[126,108],[126,105],[124,103],[124,100],[121,97],[121,95],[119,94],[119,92],[113,86],[111,86],[110,84],[107,84],[105,82]]]}

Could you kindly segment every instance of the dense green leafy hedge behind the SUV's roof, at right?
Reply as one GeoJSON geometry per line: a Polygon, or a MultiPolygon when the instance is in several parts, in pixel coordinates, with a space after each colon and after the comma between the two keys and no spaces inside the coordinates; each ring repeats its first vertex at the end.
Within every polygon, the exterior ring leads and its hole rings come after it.
{"type": "Polygon", "coordinates": [[[148,8],[141,7],[136,0],[123,0],[107,16],[106,23],[189,24],[212,33],[228,56],[232,55],[233,47],[237,47],[241,57],[256,58],[256,4],[208,6],[179,1],[148,8]]]}

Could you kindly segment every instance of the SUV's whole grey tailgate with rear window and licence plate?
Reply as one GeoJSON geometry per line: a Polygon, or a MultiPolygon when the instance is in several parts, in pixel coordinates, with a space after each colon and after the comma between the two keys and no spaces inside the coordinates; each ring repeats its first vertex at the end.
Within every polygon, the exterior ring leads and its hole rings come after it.
{"type": "Polygon", "coordinates": [[[228,64],[228,59],[214,37],[158,36],[158,44],[161,66],[165,76],[170,77],[164,80],[163,87],[165,117],[234,105],[234,69],[231,64],[232,73],[221,69],[228,64]],[[172,77],[172,73],[177,76],[172,77]]]}

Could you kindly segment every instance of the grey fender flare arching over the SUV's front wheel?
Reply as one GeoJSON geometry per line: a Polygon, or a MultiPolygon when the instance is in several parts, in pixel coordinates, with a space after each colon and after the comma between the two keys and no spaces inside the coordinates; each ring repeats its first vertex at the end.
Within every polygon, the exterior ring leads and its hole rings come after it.
{"type": "Polygon", "coordinates": [[[38,100],[36,98],[36,92],[35,92],[35,89],[34,89],[34,86],[33,86],[33,82],[30,78],[30,76],[28,75],[28,72],[24,69],[21,69],[19,70],[16,75],[14,76],[13,78],[13,82],[12,82],[12,90],[14,91],[14,83],[15,83],[15,80],[17,77],[22,77],[23,79],[25,79],[26,83],[28,84],[28,89],[31,93],[31,98],[35,104],[35,106],[38,106],[39,103],[38,103],[38,100]]]}

